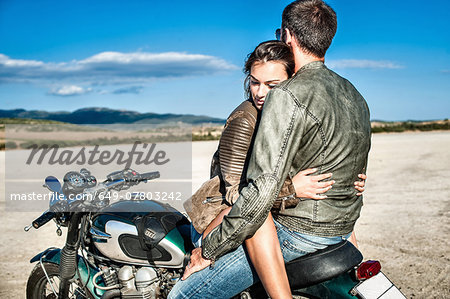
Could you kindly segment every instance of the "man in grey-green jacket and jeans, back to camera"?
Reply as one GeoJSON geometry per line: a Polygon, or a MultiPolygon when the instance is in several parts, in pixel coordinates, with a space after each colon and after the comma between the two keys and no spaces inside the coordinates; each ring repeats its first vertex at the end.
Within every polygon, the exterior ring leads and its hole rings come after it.
{"type": "Polygon", "coordinates": [[[192,252],[171,298],[229,298],[258,280],[243,241],[263,224],[286,176],[315,167],[333,173],[327,199],[304,200],[274,214],[285,261],[350,236],[362,206],[353,189],[370,148],[363,97],[327,69],[324,56],[336,33],[335,12],[321,0],[295,1],[283,11],[281,37],[296,74],[267,96],[247,169],[247,187],[222,224],[192,252]]]}

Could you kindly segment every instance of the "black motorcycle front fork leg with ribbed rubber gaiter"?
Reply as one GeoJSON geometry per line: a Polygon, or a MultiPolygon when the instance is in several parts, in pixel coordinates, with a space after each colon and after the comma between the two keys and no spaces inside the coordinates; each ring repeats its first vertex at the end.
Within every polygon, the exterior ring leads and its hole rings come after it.
{"type": "Polygon", "coordinates": [[[69,281],[75,276],[78,266],[77,253],[80,247],[80,223],[83,217],[82,213],[74,212],[70,218],[66,244],[61,250],[61,260],[59,264],[59,295],[58,299],[69,297],[69,281]]]}

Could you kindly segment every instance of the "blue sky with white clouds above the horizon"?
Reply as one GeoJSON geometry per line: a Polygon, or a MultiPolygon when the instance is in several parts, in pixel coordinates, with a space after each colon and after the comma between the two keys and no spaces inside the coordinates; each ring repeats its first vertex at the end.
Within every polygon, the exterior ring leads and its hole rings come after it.
{"type": "MultiPolygon", "coordinates": [[[[226,118],[290,1],[0,0],[0,109],[226,118]]],[[[330,0],[326,65],[376,120],[450,116],[450,1],[330,0]]]]}

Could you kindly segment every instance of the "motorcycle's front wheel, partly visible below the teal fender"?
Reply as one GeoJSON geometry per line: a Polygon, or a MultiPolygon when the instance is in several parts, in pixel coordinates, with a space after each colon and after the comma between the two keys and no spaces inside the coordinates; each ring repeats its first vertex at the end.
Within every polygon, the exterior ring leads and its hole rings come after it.
{"type": "MultiPolygon", "coordinates": [[[[53,263],[37,264],[27,282],[27,299],[57,299],[59,291],[59,265],[53,263]],[[50,278],[50,281],[45,275],[50,278]]],[[[69,288],[70,299],[89,298],[93,299],[89,291],[82,288],[81,283],[77,280],[70,285],[69,288]]]]}

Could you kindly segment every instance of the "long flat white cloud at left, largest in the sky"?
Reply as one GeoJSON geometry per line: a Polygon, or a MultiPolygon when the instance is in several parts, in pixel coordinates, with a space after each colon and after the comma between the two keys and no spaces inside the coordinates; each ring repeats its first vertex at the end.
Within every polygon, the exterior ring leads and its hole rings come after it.
{"type": "Polygon", "coordinates": [[[225,60],[182,52],[102,52],[83,60],[43,62],[0,54],[0,82],[114,82],[211,75],[238,69],[225,60]]]}

